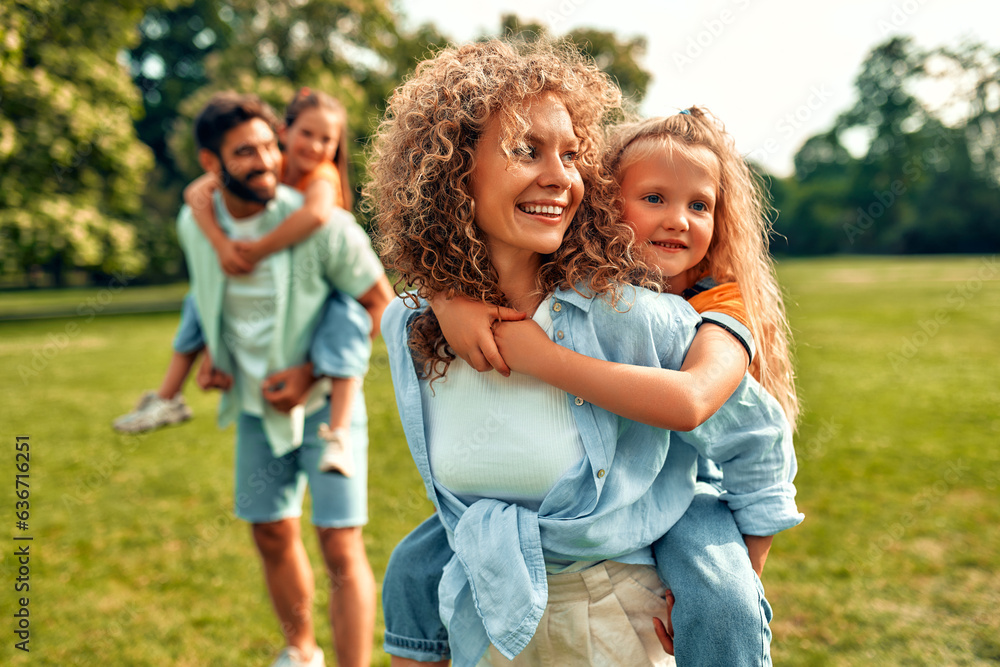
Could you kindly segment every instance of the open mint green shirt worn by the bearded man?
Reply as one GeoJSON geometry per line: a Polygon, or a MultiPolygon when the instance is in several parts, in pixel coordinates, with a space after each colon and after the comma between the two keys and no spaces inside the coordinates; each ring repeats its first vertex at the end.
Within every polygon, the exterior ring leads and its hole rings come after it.
{"type": "MultiPolygon", "coordinates": [[[[267,204],[260,221],[261,232],[266,234],[277,227],[301,205],[299,192],[278,186],[275,198],[267,204]]],[[[215,195],[215,213],[224,230],[240,224],[229,214],[219,193],[215,195]]],[[[215,366],[233,374],[233,341],[225,340],[222,326],[227,277],[219,266],[212,244],[198,229],[187,206],[178,215],[177,236],[187,259],[191,294],[201,317],[205,343],[215,366]]],[[[269,268],[275,287],[273,307],[262,309],[274,319],[274,335],[267,349],[268,374],[306,361],[313,332],[331,289],[357,298],[371,289],[384,273],[368,235],[354,217],[342,209],[336,209],[326,224],[305,241],[271,255],[269,268]]],[[[219,403],[219,426],[232,423],[242,410],[239,394],[233,390],[225,392],[219,403]]],[[[287,414],[265,402],[262,418],[275,456],[295,449],[292,421],[287,414]]]]}

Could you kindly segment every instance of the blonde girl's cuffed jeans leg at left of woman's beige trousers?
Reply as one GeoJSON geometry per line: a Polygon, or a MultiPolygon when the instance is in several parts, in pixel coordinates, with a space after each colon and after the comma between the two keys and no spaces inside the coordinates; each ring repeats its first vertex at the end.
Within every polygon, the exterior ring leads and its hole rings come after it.
{"type": "Polygon", "coordinates": [[[393,549],[382,581],[386,653],[420,662],[451,657],[437,590],[452,555],[448,534],[437,514],[393,549]]]}

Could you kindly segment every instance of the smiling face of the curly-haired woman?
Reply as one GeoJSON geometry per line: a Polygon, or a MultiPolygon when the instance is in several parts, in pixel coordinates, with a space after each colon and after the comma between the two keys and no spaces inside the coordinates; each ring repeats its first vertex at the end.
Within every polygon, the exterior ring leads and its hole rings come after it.
{"type": "Polygon", "coordinates": [[[551,93],[524,105],[530,129],[511,160],[501,148],[495,115],[475,150],[470,194],[494,264],[558,250],[583,199],[576,168],[580,140],[566,106],[551,93]]]}

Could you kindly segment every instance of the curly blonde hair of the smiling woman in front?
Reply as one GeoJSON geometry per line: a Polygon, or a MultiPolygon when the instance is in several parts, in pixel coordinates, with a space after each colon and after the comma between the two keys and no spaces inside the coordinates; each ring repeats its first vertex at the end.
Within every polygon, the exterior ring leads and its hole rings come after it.
{"type": "MultiPolygon", "coordinates": [[[[560,248],[542,258],[538,292],[583,286],[614,303],[622,284],[645,275],[602,169],[604,129],[620,116],[621,92],[572,45],[493,39],[422,62],[389,99],[376,132],[362,206],[397,287],[423,298],[453,293],[507,305],[475,223],[469,179],[487,124],[499,120],[501,149],[512,160],[531,129],[526,103],[546,93],[566,106],[580,139],[576,166],[585,194],[560,248]]],[[[410,347],[430,379],[455,358],[429,309],[414,319],[410,347]]]]}

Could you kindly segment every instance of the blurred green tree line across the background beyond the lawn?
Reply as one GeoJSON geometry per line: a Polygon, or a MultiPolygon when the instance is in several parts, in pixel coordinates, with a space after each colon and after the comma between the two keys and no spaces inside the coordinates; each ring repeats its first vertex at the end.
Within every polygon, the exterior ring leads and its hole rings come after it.
{"type": "MultiPolygon", "coordinates": [[[[498,34],[533,39],[503,18],[498,34]]],[[[566,35],[638,105],[650,74],[642,38],[566,35]]],[[[385,99],[449,42],[404,28],[379,0],[16,0],[0,6],[0,275],[60,284],[183,276],[174,232],[198,174],[191,121],[212,92],[255,92],[283,108],[301,86],[347,107],[353,182],[385,99]]],[[[779,254],[993,252],[1000,247],[1000,54],[979,44],[932,51],[906,38],[876,47],[858,102],[795,156],[762,173],[779,254]],[[930,109],[920,87],[951,82],[930,109]],[[860,146],[860,148],[859,148],[860,146]]]]}

